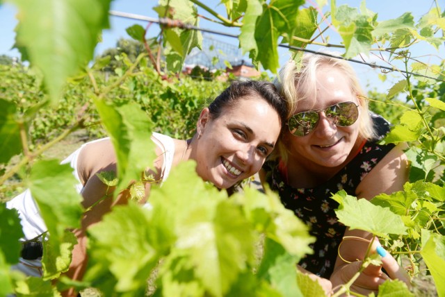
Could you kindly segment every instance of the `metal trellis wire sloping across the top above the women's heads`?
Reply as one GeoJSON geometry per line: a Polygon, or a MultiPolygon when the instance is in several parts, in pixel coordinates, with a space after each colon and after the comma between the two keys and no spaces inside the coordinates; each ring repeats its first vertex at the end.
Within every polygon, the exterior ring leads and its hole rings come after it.
{"type": "MultiPolygon", "coordinates": [[[[211,33],[211,34],[221,35],[221,36],[226,36],[226,37],[238,38],[238,35],[235,35],[235,34],[225,33],[225,32],[221,32],[221,31],[215,31],[215,30],[211,30],[211,29],[207,29],[207,28],[199,28],[197,26],[193,26],[191,24],[184,24],[183,22],[180,22],[179,20],[169,19],[167,17],[161,17],[160,19],[156,19],[154,17],[146,17],[145,15],[136,15],[136,14],[129,13],[129,12],[120,12],[120,11],[115,11],[115,10],[110,10],[108,13],[110,15],[115,16],[115,17],[124,17],[124,18],[127,18],[127,19],[136,19],[136,20],[145,21],[145,22],[152,22],[152,23],[156,23],[156,24],[160,24],[160,25],[166,26],[168,28],[182,28],[182,29],[195,30],[195,31],[206,32],[206,33],[211,33]]],[[[372,68],[386,69],[386,70],[389,70],[389,71],[398,71],[398,72],[401,72],[403,74],[410,74],[410,75],[413,75],[413,76],[421,76],[423,78],[429,78],[429,79],[432,79],[432,80],[445,82],[445,80],[442,80],[442,79],[439,79],[439,78],[434,78],[434,77],[431,77],[431,76],[426,76],[424,74],[416,74],[414,72],[405,71],[405,70],[401,70],[401,69],[396,69],[395,67],[387,67],[387,66],[377,65],[375,63],[364,62],[364,61],[360,61],[360,60],[356,60],[356,59],[343,58],[341,56],[335,56],[335,55],[332,55],[330,53],[323,53],[321,51],[313,51],[311,49],[303,49],[303,48],[298,47],[298,46],[291,46],[291,45],[286,45],[286,44],[278,44],[278,46],[279,47],[283,47],[285,49],[292,49],[292,50],[295,50],[295,51],[303,51],[305,53],[314,53],[316,55],[322,55],[322,56],[328,56],[328,57],[331,57],[331,58],[347,60],[349,62],[354,62],[354,63],[358,63],[358,64],[362,64],[362,65],[367,65],[367,66],[372,67],[372,68]]]]}

